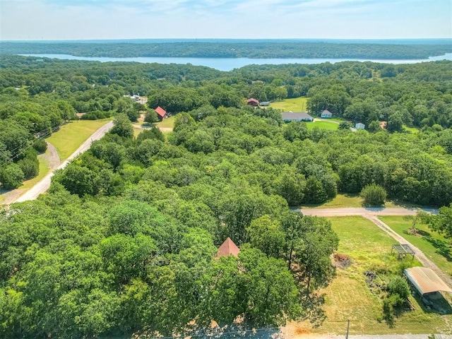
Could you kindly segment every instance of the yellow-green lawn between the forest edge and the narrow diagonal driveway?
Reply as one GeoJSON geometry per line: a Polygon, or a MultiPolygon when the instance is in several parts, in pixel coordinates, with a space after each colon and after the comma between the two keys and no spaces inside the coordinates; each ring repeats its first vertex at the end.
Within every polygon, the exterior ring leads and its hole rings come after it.
{"type": "MultiPolygon", "coordinates": [[[[418,299],[410,297],[414,311],[406,311],[396,318],[393,326],[381,319],[382,301],[371,292],[365,282],[364,272],[376,273],[400,270],[401,261],[391,254],[392,237],[367,219],[361,217],[328,218],[340,239],[338,253],[352,258],[350,267],[336,271],[336,277],[323,291],[325,293],[326,319],[318,328],[308,322],[292,324],[299,331],[335,333],[343,335],[350,319],[350,334],[390,333],[450,333],[447,322],[451,315],[440,316],[424,311],[418,299]]],[[[410,266],[420,265],[411,261],[410,266]]]]}

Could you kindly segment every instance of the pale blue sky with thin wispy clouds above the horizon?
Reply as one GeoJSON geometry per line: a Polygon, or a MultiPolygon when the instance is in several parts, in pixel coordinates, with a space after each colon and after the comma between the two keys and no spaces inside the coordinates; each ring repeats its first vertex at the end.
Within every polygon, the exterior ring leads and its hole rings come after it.
{"type": "Polygon", "coordinates": [[[0,40],[451,37],[452,0],[0,0],[0,40]]]}

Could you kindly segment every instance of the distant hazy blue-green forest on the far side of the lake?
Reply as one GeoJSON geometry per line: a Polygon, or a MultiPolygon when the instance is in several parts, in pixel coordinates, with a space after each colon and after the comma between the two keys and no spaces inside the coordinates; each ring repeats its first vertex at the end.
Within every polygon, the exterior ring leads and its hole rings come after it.
{"type": "Polygon", "coordinates": [[[427,59],[452,52],[448,44],[370,42],[0,42],[3,54],[71,54],[79,57],[357,58],[427,59]]]}

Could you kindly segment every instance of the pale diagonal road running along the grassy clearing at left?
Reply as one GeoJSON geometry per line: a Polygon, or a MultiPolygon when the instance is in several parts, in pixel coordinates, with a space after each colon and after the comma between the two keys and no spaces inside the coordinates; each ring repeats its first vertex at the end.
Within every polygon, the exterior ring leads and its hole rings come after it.
{"type": "MultiPolygon", "coordinates": [[[[73,160],[73,158],[77,157],[81,153],[85,152],[85,150],[88,150],[91,147],[91,143],[93,141],[99,140],[102,138],[102,136],[105,136],[105,133],[109,131],[113,127],[113,121],[109,121],[104,126],[100,127],[100,129],[97,129],[90,138],[88,138],[87,141],[85,141],[77,150],[72,153],[71,156],[69,156],[61,165],[59,165],[58,169],[66,167],[66,165],[69,164],[69,161],[73,160]]],[[[50,178],[52,178],[53,172],[50,174],[47,174],[40,182],[35,184],[35,186],[32,186],[31,189],[29,189],[25,194],[20,196],[16,201],[16,203],[20,203],[22,201],[28,201],[28,200],[34,200],[39,196],[40,194],[44,193],[49,189],[50,186],[50,178]]]]}

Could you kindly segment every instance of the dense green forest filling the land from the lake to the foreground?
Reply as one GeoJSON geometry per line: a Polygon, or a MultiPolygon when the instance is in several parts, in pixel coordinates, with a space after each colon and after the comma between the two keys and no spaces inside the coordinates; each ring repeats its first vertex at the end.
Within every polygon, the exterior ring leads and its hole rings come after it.
{"type": "Polygon", "coordinates": [[[289,206],[370,184],[410,203],[452,202],[451,61],[220,72],[3,56],[0,66],[3,178],[23,172],[18,158],[35,133],[74,112],[114,116],[112,131],[57,172],[48,194],[1,210],[2,338],[172,335],[211,321],[309,318],[334,275],[338,237],[327,220],[289,206]],[[124,97],[136,93],[148,107],[124,97]],[[329,109],[368,131],[284,124],[275,109],[247,107],[251,96],[308,96],[311,114],[329,109]],[[156,105],[176,114],[174,131],[135,138],[131,122],[156,105]],[[13,145],[18,136],[25,141],[13,145]],[[227,237],[239,256],[215,258],[227,237]]]}

